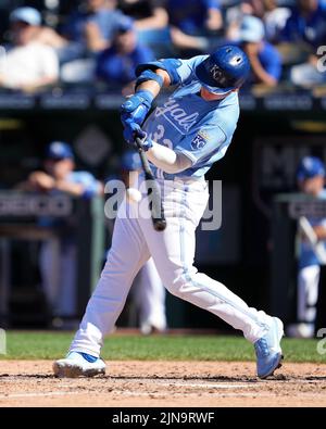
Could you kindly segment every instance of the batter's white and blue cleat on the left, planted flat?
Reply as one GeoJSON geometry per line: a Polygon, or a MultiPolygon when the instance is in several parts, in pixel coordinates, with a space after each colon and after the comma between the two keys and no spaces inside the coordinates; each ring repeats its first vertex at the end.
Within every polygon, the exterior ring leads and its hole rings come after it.
{"type": "Polygon", "coordinates": [[[95,377],[105,374],[105,364],[100,357],[70,352],[65,358],[53,363],[53,373],[59,378],[95,377]]]}

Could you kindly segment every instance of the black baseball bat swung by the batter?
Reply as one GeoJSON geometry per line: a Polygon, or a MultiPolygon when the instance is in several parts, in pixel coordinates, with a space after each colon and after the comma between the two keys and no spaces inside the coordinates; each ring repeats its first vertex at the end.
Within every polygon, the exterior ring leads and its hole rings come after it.
{"type": "Polygon", "coordinates": [[[166,219],[164,216],[163,202],[161,198],[161,189],[154,178],[154,175],[149,165],[145,150],[142,149],[142,140],[136,137],[136,146],[141,161],[141,166],[145,173],[147,194],[152,202],[151,216],[155,231],[164,231],[166,228],[166,219]]]}

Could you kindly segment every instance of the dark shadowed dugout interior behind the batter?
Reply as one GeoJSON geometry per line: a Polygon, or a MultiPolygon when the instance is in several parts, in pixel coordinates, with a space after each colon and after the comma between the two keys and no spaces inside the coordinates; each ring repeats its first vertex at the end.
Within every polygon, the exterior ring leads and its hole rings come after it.
{"type": "MultiPolygon", "coordinates": [[[[122,100],[111,92],[1,93],[0,189],[11,189],[38,167],[46,146],[54,139],[72,142],[77,169],[103,180],[114,175],[125,148],[118,115],[122,100]]],[[[250,305],[266,311],[276,305],[278,311],[283,303],[274,302],[271,292],[276,269],[271,265],[273,199],[296,190],[301,156],[315,154],[326,160],[326,102],[293,90],[258,97],[242,93],[240,101],[242,113],[234,141],[208,175],[211,181],[222,180],[222,228],[198,231],[196,262],[250,305]]],[[[15,266],[22,267],[20,257],[13,257],[15,266]]],[[[34,281],[36,286],[37,275],[34,281]]],[[[121,325],[128,323],[125,316],[121,325]]],[[[167,318],[173,328],[227,330],[215,316],[171,295],[167,318]]]]}

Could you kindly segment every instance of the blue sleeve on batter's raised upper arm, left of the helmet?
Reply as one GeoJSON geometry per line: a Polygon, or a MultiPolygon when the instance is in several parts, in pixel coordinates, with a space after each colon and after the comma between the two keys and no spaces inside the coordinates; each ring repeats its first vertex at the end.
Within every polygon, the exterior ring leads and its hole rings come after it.
{"type": "Polygon", "coordinates": [[[190,60],[176,60],[176,59],[163,59],[159,61],[153,61],[150,63],[139,64],[136,68],[136,76],[139,76],[145,70],[155,71],[156,68],[162,68],[167,72],[171,85],[184,84],[187,79],[195,76],[196,66],[201,63],[208,55],[193,56],[190,60]]]}

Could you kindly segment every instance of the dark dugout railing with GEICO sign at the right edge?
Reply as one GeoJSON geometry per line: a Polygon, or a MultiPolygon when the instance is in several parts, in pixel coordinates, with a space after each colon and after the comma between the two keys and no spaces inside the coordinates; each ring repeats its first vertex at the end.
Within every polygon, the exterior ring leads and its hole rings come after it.
{"type": "MultiPolygon", "coordinates": [[[[297,320],[299,219],[325,218],[326,202],[300,193],[277,194],[273,201],[271,311],[286,324],[297,320]]],[[[316,331],[326,326],[326,267],[321,265],[316,331]]]]}

